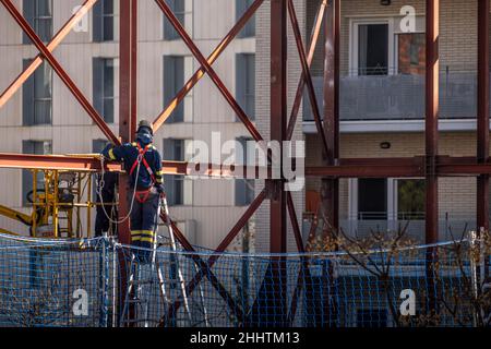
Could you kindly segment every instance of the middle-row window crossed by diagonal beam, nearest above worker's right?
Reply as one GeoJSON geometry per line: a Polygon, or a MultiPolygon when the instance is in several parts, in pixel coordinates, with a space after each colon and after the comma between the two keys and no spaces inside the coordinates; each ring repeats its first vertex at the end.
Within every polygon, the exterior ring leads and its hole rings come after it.
{"type": "MultiPolygon", "coordinates": [[[[164,107],[168,106],[183,86],[184,57],[164,56],[164,107]]],[[[167,122],[184,121],[184,101],[185,99],[176,107],[167,122]]]]}

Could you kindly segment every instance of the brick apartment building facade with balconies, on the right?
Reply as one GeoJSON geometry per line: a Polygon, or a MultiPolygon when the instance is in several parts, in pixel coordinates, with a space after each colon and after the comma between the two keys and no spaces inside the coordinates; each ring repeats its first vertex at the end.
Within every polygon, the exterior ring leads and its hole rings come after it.
{"type": "MultiPolygon", "coordinates": [[[[304,43],[309,43],[322,1],[297,1],[304,43]]],[[[426,7],[423,0],[345,0],[340,4],[340,157],[424,156],[426,7]],[[409,22],[408,22],[409,19],[409,22]]],[[[477,0],[440,1],[439,154],[476,156],[477,0]]],[[[270,11],[258,17],[258,86],[270,76],[270,11]],[[264,46],[263,46],[264,45],[264,46]],[[264,77],[265,76],[265,77],[264,77]]],[[[311,71],[323,110],[324,34],[311,71]]],[[[306,44],[307,46],[307,44],[306,44]]],[[[288,38],[288,110],[299,81],[295,38],[288,38]]],[[[268,130],[268,94],[258,96],[258,124],[268,130]]],[[[306,166],[322,166],[322,143],[307,92],[296,137],[306,141],[306,166]],[[300,130],[299,130],[300,129],[300,130]]],[[[319,207],[320,179],[308,179],[296,201],[309,233],[319,207]]],[[[439,181],[440,240],[476,229],[476,179],[439,181]]],[[[258,240],[268,241],[268,209],[258,214],[258,240]]],[[[409,222],[408,234],[424,241],[424,181],[414,179],[342,179],[339,222],[345,232],[364,237],[409,222]]],[[[289,249],[295,249],[291,228],[289,249]]]]}

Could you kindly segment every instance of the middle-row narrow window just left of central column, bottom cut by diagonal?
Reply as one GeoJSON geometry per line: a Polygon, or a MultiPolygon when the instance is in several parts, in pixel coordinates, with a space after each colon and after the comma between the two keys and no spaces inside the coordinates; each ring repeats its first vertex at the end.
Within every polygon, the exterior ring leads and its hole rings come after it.
{"type": "Polygon", "coordinates": [[[236,57],[236,96],[246,115],[255,119],[255,55],[236,57]]]}

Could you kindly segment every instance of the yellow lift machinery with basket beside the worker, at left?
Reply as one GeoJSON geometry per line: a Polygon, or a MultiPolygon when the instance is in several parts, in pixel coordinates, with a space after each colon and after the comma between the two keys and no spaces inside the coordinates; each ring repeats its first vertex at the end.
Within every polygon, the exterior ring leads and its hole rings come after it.
{"type": "MultiPolygon", "coordinates": [[[[27,193],[32,213],[0,205],[0,215],[29,227],[32,237],[82,238],[92,231],[93,174],[84,171],[32,169],[33,190],[27,193]],[[85,225],[82,224],[82,209],[85,225]],[[83,233],[86,231],[87,233],[83,233]]],[[[0,228],[0,232],[16,234],[0,228]]]]}

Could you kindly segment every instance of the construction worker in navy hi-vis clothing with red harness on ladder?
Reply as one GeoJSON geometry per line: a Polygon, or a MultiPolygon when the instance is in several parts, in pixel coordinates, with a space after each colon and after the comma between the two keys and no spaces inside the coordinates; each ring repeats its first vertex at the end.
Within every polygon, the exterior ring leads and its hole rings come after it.
{"type": "MultiPolygon", "coordinates": [[[[131,244],[145,249],[151,249],[156,239],[159,196],[164,194],[161,157],[152,144],[153,135],[152,124],[142,120],[135,142],[109,145],[103,151],[108,160],[124,164],[129,174],[128,202],[133,205],[130,213],[131,244]]],[[[149,250],[136,254],[141,262],[148,262],[149,250]]]]}

